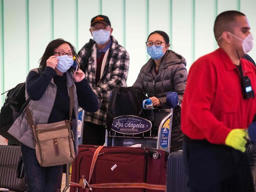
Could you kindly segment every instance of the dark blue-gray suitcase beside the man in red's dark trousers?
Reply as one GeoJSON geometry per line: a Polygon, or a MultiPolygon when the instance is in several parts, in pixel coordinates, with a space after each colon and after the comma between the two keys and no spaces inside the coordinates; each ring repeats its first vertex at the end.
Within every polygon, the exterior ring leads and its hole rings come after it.
{"type": "Polygon", "coordinates": [[[166,189],[166,192],[188,192],[182,150],[168,156],[166,189]]]}

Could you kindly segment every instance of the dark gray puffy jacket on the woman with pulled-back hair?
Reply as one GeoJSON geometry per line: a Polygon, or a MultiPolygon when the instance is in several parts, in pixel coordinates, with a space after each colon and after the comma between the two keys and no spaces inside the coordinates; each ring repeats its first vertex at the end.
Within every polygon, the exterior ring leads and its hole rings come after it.
{"type": "MultiPolygon", "coordinates": [[[[182,102],[187,84],[186,60],[172,50],[167,50],[158,67],[158,74],[154,70],[155,62],[152,58],[140,69],[140,73],[133,86],[140,87],[148,97],[157,97],[166,106],[168,91],[175,91],[182,102]]],[[[183,134],[180,129],[180,108],[174,109],[171,136],[171,152],[182,149],[183,134]]]]}

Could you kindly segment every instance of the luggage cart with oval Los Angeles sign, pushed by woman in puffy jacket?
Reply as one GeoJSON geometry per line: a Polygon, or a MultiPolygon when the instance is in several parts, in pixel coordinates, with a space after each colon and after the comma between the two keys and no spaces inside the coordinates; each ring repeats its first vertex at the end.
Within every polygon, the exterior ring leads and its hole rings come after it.
{"type": "Polygon", "coordinates": [[[105,145],[129,147],[141,144],[144,148],[170,152],[173,109],[178,105],[178,94],[169,92],[166,102],[169,109],[153,110],[153,124],[138,116],[115,117],[111,129],[106,130],[105,145]]]}

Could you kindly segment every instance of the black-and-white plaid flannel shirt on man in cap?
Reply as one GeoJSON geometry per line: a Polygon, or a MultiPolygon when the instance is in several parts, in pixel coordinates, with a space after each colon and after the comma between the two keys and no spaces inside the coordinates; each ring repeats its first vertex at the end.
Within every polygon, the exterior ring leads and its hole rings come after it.
{"type": "MultiPolygon", "coordinates": [[[[92,90],[100,100],[99,110],[95,113],[86,112],[85,121],[95,123],[97,125],[106,125],[107,108],[109,103],[109,95],[116,87],[126,86],[126,80],[129,69],[129,54],[116,39],[111,36],[112,45],[107,55],[107,62],[103,71],[101,79],[95,84],[96,74],[96,54],[95,44],[92,47],[92,54],[88,60],[88,67],[85,70],[85,78],[88,80],[92,90]]],[[[82,58],[86,56],[86,45],[78,52],[77,60],[83,65],[82,58]]]]}

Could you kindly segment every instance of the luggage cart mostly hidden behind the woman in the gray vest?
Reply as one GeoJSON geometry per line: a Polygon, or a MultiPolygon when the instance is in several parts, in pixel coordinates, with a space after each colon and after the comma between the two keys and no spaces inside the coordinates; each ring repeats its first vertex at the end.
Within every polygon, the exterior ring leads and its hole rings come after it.
{"type": "MultiPolygon", "coordinates": [[[[84,127],[84,116],[85,111],[82,108],[78,109],[78,144],[82,144],[83,138],[83,127],[84,127]]],[[[66,192],[70,187],[70,177],[71,177],[71,165],[72,163],[67,164],[67,171],[66,171],[66,186],[62,190],[62,192],[66,192]]]]}

